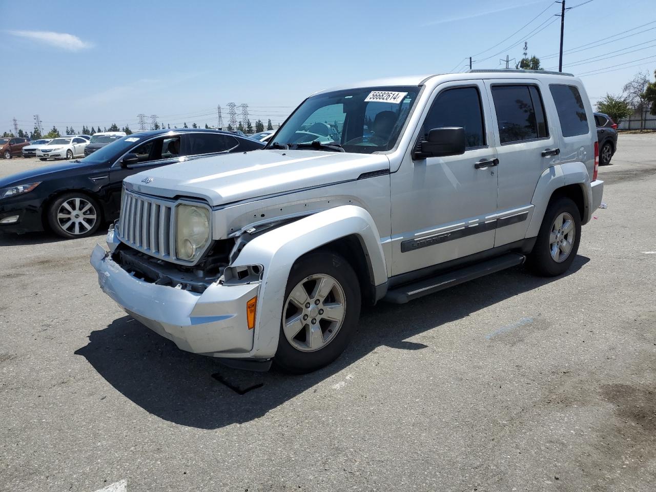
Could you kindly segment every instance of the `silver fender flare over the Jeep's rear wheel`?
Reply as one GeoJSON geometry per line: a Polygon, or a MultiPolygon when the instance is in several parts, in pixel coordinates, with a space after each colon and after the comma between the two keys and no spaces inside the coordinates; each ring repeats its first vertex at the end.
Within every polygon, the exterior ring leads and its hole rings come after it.
{"type": "Polygon", "coordinates": [[[558,188],[570,184],[579,184],[583,191],[584,213],[583,217],[581,217],[581,223],[587,224],[590,221],[590,215],[592,214],[590,209],[592,189],[590,188],[588,169],[582,162],[557,164],[545,169],[537,182],[537,186],[535,186],[533,199],[531,199],[531,203],[535,205],[535,211],[533,211],[531,223],[526,230],[525,237],[537,236],[551,195],[558,188]]]}

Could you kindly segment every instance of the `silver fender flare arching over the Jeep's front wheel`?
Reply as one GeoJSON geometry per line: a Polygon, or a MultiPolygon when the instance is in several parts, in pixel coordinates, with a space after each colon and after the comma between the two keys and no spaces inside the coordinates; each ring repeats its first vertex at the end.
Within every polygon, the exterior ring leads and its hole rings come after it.
{"type": "Polygon", "coordinates": [[[251,357],[270,358],[276,354],[285,287],[293,263],[313,249],[352,235],[360,239],[373,283],[385,283],[387,267],[379,232],[369,212],[355,205],[342,205],[307,216],[255,237],[245,245],[232,266],[264,267],[251,357]]]}

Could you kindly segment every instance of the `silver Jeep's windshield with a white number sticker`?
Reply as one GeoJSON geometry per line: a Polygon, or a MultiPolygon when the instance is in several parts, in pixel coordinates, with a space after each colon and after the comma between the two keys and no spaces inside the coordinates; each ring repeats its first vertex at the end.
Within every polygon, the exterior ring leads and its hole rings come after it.
{"type": "Polygon", "coordinates": [[[419,87],[366,87],[327,92],[305,100],[279,130],[276,141],[291,148],[319,142],[340,144],[345,152],[371,154],[396,145],[419,87]]]}

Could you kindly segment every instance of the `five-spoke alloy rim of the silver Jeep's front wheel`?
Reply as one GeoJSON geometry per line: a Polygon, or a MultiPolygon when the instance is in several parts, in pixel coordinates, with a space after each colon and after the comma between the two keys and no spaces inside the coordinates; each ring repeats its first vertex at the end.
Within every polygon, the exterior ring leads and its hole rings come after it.
{"type": "Polygon", "coordinates": [[[283,314],[283,332],[294,348],[320,350],[335,339],[344,322],[344,289],[329,275],[305,277],[289,293],[283,314]]]}

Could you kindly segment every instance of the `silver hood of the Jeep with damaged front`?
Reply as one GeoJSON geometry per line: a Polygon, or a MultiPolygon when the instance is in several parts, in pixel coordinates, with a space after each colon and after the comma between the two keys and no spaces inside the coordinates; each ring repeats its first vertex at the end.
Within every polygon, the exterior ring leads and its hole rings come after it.
{"type": "Polygon", "coordinates": [[[388,171],[386,155],[314,150],[255,150],[215,155],[143,171],[125,187],[159,197],[197,197],[215,207],[388,171]]]}

